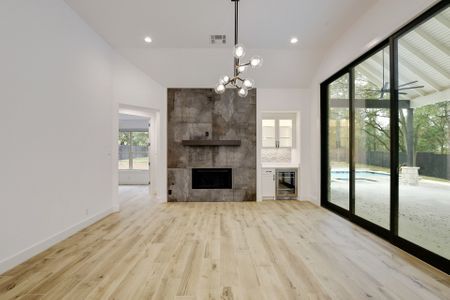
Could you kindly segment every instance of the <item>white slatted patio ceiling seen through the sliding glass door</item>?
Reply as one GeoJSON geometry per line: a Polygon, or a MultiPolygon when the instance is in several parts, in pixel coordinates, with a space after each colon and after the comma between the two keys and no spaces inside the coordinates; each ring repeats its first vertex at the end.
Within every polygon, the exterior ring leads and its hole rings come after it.
{"type": "MultiPolygon", "coordinates": [[[[402,99],[413,100],[413,107],[450,100],[450,8],[399,39],[398,54],[399,84],[408,88],[403,90],[402,99]],[[414,86],[420,88],[411,88],[414,86]]],[[[380,51],[361,63],[357,71],[381,88],[389,81],[389,57],[383,61],[380,51]]]]}

